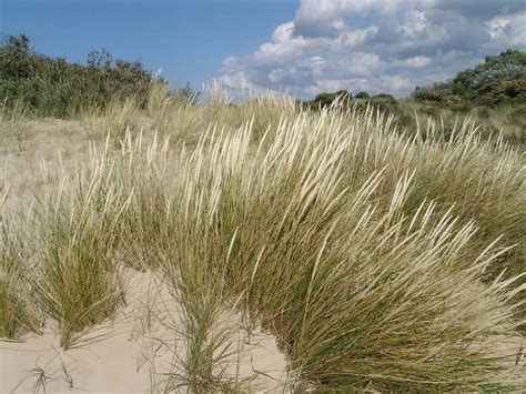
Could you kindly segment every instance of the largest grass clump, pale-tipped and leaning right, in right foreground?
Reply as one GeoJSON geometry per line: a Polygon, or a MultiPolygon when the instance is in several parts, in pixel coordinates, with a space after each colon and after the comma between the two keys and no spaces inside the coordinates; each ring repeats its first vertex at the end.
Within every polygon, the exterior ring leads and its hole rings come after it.
{"type": "MultiPolygon", "coordinates": [[[[367,133],[382,128],[360,119],[367,133]]],[[[297,387],[513,387],[488,343],[518,335],[507,301],[524,286],[482,281],[506,250],[472,256],[476,225],[434,203],[404,213],[416,182],[407,173],[387,199],[385,171],[347,181],[360,129],[342,121],[326,111],[283,121],[255,156],[250,127],[213,134],[183,161],[169,260],[178,286],[192,271],[198,289],[272,330],[297,387]]]]}

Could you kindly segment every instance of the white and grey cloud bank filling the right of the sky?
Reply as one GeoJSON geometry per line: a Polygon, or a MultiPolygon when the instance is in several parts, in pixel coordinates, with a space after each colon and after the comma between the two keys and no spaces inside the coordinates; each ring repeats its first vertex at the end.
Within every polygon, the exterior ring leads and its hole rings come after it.
{"type": "Polygon", "coordinates": [[[526,49],[520,0],[302,0],[269,42],[226,58],[218,81],[301,98],[338,89],[402,97],[508,48],[526,49]]]}

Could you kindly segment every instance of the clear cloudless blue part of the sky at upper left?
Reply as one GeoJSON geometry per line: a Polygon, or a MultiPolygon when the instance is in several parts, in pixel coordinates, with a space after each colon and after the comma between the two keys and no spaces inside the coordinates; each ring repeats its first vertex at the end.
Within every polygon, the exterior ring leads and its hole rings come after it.
{"type": "Polygon", "coordinates": [[[24,32],[38,51],[72,61],[104,47],[201,89],[226,57],[257,48],[296,9],[295,0],[0,0],[0,31],[24,32]]]}

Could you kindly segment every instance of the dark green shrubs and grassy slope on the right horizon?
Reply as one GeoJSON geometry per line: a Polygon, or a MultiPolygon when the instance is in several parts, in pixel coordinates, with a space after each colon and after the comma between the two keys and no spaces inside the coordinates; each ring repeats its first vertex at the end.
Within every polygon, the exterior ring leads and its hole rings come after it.
{"type": "Polygon", "coordinates": [[[367,104],[388,111],[395,122],[411,131],[426,118],[444,123],[447,132],[469,117],[482,128],[483,135],[502,133],[510,143],[526,148],[526,52],[507,50],[487,57],[485,62],[458,72],[452,80],[416,88],[409,99],[396,100],[390,94],[353,94],[341,90],[320,93],[302,102],[303,108],[318,109],[342,98],[350,107],[367,104]],[[419,118],[419,119],[417,119],[419,118]]]}

